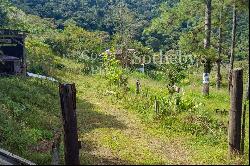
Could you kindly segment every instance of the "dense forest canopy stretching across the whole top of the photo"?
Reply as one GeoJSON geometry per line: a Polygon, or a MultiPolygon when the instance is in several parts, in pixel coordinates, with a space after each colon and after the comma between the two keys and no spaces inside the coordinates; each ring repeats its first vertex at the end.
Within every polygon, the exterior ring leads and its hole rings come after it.
{"type": "MultiPolygon", "coordinates": [[[[203,0],[4,0],[1,26],[29,31],[57,55],[116,47],[137,55],[181,50],[212,62],[229,60],[232,0],[212,1],[211,47],[204,49],[203,0]],[[11,2],[12,4],[8,3],[11,2]],[[15,5],[16,7],[14,7],[15,5]],[[7,7],[8,6],[8,7],[7,7]],[[222,10],[223,9],[223,10],[222,10]],[[220,17],[221,16],[221,17],[220,17]],[[71,34],[71,37],[68,37],[71,34]],[[220,51],[218,51],[220,50],[220,51]],[[219,53],[220,52],[220,53],[219,53]]],[[[248,57],[248,1],[237,1],[235,54],[248,57]]],[[[31,35],[32,36],[32,35],[31,35]]],[[[31,40],[28,40],[31,41],[31,40]]],[[[36,43],[36,42],[34,42],[36,43]]]]}

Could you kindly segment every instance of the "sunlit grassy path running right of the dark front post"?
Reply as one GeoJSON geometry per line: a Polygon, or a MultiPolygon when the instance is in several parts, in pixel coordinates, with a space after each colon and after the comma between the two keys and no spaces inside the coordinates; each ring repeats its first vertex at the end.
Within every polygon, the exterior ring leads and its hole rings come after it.
{"type": "Polygon", "coordinates": [[[78,91],[82,164],[188,163],[180,142],[149,134],[136,115],[87,92],[78,91]]]}

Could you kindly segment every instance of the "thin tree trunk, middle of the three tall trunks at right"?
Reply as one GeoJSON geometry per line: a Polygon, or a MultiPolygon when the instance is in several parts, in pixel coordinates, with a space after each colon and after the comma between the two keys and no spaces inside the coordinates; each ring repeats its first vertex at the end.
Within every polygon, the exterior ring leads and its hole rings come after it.
{"type": "Polygon", "coordinates": [[[219,28],[219,55],[218,55],[218,60],[217,60],[217,81],[216,81],[216,87],[219,90],[221,88],[221,81],[222,81],[222,76],[221,76],[221,52],[222,52],[222,12],[223,12],[223,5],[224,5],[224,0],[222,0],[221,4],[221,10],[220,10],[220,28],[219,28]]]}

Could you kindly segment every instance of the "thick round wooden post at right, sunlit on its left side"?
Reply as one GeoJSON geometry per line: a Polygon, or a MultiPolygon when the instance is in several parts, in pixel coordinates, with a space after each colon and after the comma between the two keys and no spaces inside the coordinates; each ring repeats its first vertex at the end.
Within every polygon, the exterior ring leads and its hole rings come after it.
{"type": "Polygon", "coordinates": [[[229,114],[229,153],[240,153],[241,144],[241,116],[243,100],[243,70],[232,71],[232,84],[230,85],[231,110],[229,114]]]}

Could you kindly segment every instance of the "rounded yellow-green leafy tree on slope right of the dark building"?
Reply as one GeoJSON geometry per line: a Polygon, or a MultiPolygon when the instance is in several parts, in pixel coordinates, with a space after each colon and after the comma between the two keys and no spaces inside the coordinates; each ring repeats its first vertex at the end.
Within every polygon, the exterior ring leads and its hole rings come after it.
{"type": "Polygon", "coordinates": [[[83,56],[99,55],[105,47],[105,33],[89,32],[74,23],[68,23],[63,31],[48,37],[45,43],[59,56],[75,59],[78,62],[83,56]]]}

